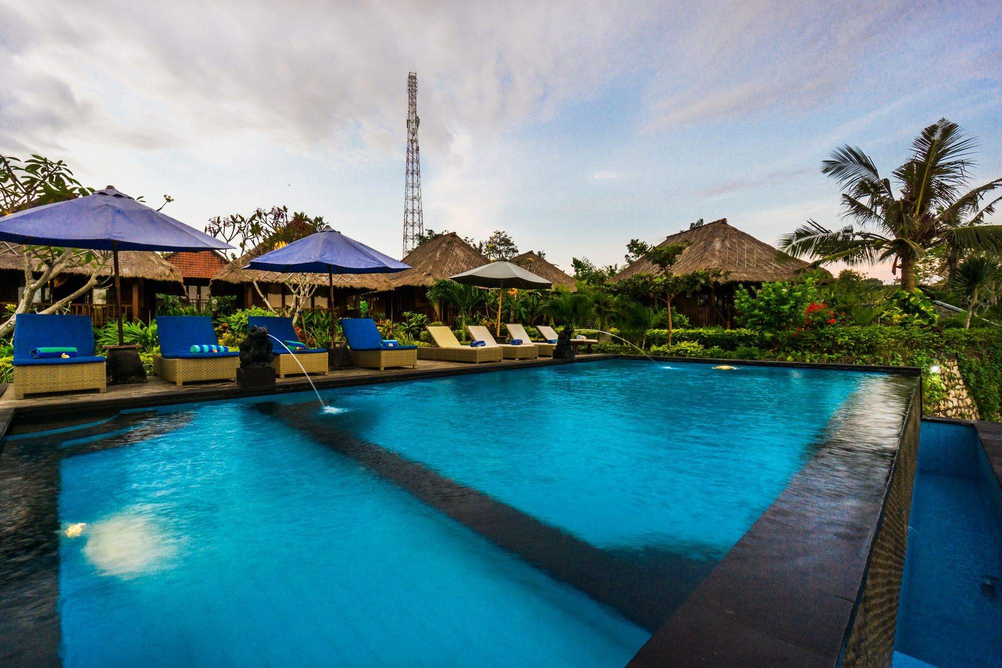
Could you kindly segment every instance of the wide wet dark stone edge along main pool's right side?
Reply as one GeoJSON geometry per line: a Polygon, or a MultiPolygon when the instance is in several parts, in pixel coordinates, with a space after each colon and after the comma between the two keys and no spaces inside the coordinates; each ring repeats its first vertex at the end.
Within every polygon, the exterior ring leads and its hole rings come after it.
{"type": "MultiPolygon", "coordinates": [[[[629,666],[840,665],[898,455],[906,434],[918,437],[909,427],[921,407],[916,383],[893,452],[861,456],[852,428],[836,429],[629,666]],[[833,466],[854,473],[834,494],[825,484],[833,466]]],[[[862,408],[854,418],[865,426],[862,408]]]]}

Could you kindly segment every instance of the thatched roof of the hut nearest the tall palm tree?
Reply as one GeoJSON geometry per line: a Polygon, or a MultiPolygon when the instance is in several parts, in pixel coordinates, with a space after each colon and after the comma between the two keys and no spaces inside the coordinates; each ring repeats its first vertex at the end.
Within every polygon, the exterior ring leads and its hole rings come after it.
{"type": "MultiPolygon", "coordinates": [[[[675,274],[719,269],[722,283],[790,281],[808,268],[808,263],[790,257],[737,228],[727,219],[707,223],[667,237],[658,246],[688,242],[671,268],[675,274]]],[[[636,274],[656,274],[657,266],[641,258],[612,277],[621,281],[636,274]]]]}

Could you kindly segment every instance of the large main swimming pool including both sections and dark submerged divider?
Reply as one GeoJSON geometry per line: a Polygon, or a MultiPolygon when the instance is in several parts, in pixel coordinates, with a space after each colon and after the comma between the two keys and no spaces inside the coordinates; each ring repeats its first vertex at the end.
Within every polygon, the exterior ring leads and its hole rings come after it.
{"type": "Polygon", "coordinates": [[[63,662],[621,665],[852,397],[901,390],[676,366],[326,391],[336,414],[312,394],[189,404],[8,439],[5,458],[58,487],[63,662]]]}

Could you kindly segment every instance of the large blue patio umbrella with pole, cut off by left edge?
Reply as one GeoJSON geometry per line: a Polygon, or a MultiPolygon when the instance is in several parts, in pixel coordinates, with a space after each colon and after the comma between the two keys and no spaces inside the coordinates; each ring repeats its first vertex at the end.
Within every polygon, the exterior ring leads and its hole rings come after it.
{"type": "Polygon", "coordinates": [[[0,241],[111,251],[122,345],[118,251],[207,251],[232,246],[136,202],[111,186],[93,195],[0,217],[0,241]]]}

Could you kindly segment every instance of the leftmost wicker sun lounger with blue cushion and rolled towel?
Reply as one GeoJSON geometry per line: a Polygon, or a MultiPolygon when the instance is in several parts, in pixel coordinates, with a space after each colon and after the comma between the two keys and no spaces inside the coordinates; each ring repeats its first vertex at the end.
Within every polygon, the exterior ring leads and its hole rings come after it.
{"type": "Polygon", "coordinates": [[[87,316],[22,313],[14,321],[14,398],[40,392],[107,390],[87,316]]]}

